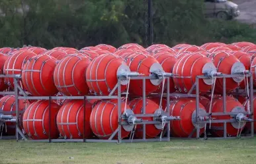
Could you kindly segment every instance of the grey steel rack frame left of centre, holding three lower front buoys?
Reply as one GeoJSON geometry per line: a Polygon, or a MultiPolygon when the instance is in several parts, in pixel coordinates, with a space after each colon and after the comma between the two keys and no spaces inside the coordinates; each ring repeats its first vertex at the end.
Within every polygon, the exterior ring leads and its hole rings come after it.
{"type": "MultiPolygon", "coordinates": [[[[170,132],[169,132],[169,121],[167,121],[167,136],[163,137],[163,138],[146,138],[146,124],[162,124],[161,121],[142,121],[142,123],[138,123],[138,124],[142,124],[143,125],[143,138],[142,139],[126,139],[126,138],[122,138],[122,126],[126,125],[127,123],[124,123],[124,121],[122,121],[122,119],[124,118],[124,115],[121,113],[121,97],[122,97],[122,92],[121,92],[121,81],[125,80],[125,78],[119,77],[118,78],[118,82],[116,84],[116,86],[113,88],[112,92],[110,92],[110,94],[108,96],[27,96],[26,92],[24,92],[24,90],[22,90],[22,88],[19,86],[19,79],[21,78],[21,76],[19,75],[15,75],[13,76],[13,78],[15,79],[15,101],[16,101],[16,109],[19,109],[19,103],[17,103],[20,99],[27,99],[27,100],[33,100],[33,99],[38,99],[38,100],[49,100],[49,126],[51,127],[52,125],[50,124],[50,111],[51,111],[51,107],[50,107],[50,103],[52,102],[52,100],[57,100],[57,99],[81,99],[83,100],[83,104],[84,104],[84,109],[85,109],[85,105],[86,105],[86,100],[88,99],[118,99],[118,128],[114,131],[114,133],[110,136],[110,138],[108,138],[108,140],[101,140],[101,139],[85,139],[85,122],[83,123],[83,138],[82,139],[52,139],[50,138],[50,132],[48,132],[48,139],[46,140],[30,140],[28,138],[26,138],[26,136],[22,133],[21,129],[19,128],[19,125],[17,124],[16,128],[17,128],[17,136],[16,136],[16,140],[17,142],[114,142],[114,143],[122,143],[122,142],[166,142],[170,140],[170,132]],[[117,96],[114,96],[113,93],[115,91],[118,91],[117,96]],[[19,134],[21,135],[22,139],[19,138],[19,134]],[[114,138],[117,134],[117,138],[114,138]]],[[[149,79],[157,79],[154,76],[134,76],[134,77],[130,77],[130,80],[141,80],[142,81],[142,85],[143,85],[143,113],[140,115],[133,115],[134,117],[158,117],[159,115],[157,114],[146,114],[146,80],[149,79]]],[[[168,77],[166,77],[166,81],[167,81],[167,105],[169,106],[169,83],[170,83],[170,79],[168,77]]],[[[17,110],[18,111],[18,110],[17,110]]],[[[165,111],[165,113],[167,113],[167,116],[169,116],[169,108],[167,108],[167,110],[165,111]]],[[[17,121],[20,119],[19,115],[17,115],[17,121]]],[[[83,119],[85,119],[85,110],[83,112],[83,119]]]]}

